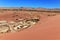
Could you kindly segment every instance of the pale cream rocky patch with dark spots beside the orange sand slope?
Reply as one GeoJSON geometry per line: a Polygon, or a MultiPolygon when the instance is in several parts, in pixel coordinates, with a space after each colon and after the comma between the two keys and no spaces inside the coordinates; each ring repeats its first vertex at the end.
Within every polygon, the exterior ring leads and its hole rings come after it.
{"type": "Polygon", "coordinates": [[[0,21],[0,33],[7,33],[7,32],[15,32],[20,31],[22,29],[28,28],[33,24],[36,24],[39,19],[19,19],[18,22],[10,21],[7,22],[6,20],[0,21]]]}

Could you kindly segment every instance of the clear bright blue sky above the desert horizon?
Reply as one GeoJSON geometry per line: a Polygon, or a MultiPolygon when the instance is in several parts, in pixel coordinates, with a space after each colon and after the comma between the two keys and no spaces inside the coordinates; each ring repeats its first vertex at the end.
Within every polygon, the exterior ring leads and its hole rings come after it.
{"type": "Polygon", "coordinates": [[[60,8],[60,0],[0,0],[0,7],[60,8]]]}

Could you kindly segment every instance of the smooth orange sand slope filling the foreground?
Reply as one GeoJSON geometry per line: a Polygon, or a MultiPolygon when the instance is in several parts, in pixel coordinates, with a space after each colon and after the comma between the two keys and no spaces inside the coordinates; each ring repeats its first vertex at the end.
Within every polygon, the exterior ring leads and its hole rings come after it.
{"type": "Polygon", "coordinates": [[[0,40],[60,40],[60,15],[41,19],[31,28],[0,37],[0,40]]]}

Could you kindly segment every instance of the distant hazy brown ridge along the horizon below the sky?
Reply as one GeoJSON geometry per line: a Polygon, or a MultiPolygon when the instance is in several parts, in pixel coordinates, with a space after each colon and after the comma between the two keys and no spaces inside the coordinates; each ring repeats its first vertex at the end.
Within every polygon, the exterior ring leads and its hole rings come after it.
{"type": "Polygon", "coordinates": [[[0,10],[60,11],[60,8],[0,7],[0,10]]]}

